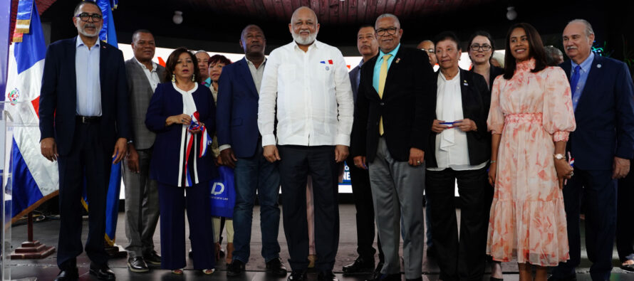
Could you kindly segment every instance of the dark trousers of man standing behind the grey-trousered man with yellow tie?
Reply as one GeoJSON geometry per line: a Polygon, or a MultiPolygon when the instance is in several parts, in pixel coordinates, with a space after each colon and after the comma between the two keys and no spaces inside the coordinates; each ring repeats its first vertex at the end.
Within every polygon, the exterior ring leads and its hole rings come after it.
{"type": "MultiPolygon", "coordinates": [[[[352,156],[345,159],[350,169],[350,185],[355,202],[356,223],[357,223],[357,253],[364,259],[374,260],[376,250],[373,247],[375,227],[374,227],[374,204],[372,202],[372,190],[370,190],[370,174],[368,170],[355,166],[352,156]]],[[[379,249],[379,261],[384,260],[381,241],[377,237],[379,249]]]]}

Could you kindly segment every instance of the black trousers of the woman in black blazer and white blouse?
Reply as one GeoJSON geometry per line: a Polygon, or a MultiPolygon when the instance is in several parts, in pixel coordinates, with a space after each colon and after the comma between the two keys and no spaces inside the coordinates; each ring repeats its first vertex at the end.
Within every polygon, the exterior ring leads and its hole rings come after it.
{"type": "Polygon", "coordinates": [[[427,170],[425,187],[427,196],[434,202],[430,206],[432,240],[440,267],[440,279],[443,281],[482,280],[485,265],[482,255],[487,243],[482,240],[482,233],[487,231],[487,221],[482,219],[483,205],[487,203],[484,198],[486,184],[486,168],[427,170]],[[462,203],[459,239],[454,204],[456,181],[462,203]]]}

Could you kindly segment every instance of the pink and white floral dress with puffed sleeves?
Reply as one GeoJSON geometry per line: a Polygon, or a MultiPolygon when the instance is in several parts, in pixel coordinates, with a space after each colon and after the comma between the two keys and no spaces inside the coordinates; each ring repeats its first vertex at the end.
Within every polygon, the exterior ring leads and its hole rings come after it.
{"type": "Polygon", "coordinates": [[[487,124],[502,138],[487,254],[555,266],[569,256],[554,142],[567,141],[576,124],[566,73],[553,67],[531,73],[534,67],[535,60],[526,60],[511,80],[494,80],[487,124]]]}

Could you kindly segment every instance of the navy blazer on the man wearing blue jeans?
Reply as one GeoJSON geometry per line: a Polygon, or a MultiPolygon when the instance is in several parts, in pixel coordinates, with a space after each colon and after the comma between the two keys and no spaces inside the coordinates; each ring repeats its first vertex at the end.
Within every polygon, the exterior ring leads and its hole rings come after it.
{"type": "MultiPolygon", "coordinates": [[[[263,67],[264,65],[260,65],[263,67]]],[[[246,58],[224,66],[218,80],[218,144],[229,144],[236,157],[253,157],[259,137],[258,91],[246,58]]]]}

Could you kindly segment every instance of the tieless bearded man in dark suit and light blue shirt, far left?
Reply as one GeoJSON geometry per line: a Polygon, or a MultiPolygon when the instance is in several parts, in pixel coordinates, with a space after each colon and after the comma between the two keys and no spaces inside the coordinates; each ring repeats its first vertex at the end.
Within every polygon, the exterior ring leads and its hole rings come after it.
{"type": "Polygon", "coordinates": [[[130,137],[125,65],[121,51],[99,41],[103,26],[99,6],[80,2],[74,15],[79,35],[48,46],[40,93],[41,152],[59,166],[61,272],[56,280],[78,278],[84,178],[90,274],[115,280],[103,235],[110,166],[125,157],[130,137]]]}

